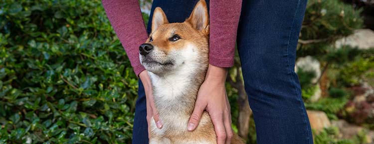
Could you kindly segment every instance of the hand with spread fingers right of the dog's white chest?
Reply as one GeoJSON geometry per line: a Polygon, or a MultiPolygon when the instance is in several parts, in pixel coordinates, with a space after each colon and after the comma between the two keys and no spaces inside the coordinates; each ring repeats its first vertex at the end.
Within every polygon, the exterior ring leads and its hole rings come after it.
{"type": "Polygon", "coordinates": [[[217,144],[230,144],[233,135],[230,103],[225,88],[226,75],[225,68],[209,65],[205,80],[197,93],[195,108],[187,126],[188,131],[196,129],[202,112],[206,110],[214,125],[217,144]]]}

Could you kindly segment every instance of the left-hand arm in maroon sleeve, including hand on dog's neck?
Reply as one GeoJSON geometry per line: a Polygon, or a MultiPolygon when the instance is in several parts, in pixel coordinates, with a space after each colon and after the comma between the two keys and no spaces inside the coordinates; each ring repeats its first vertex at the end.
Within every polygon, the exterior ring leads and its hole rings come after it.
{"type": "Polygon", "coordinates": [[[102,3],[114,31],[126,50],[134,72],[139,75],[144,85],[148,125],[151,122],[150,118],[153,117],[156,126],[162,128],[153,100],[151,79],[139,61],[139,46],[148,38],[139,2],[138,0],[102,0],[102,3]]]}

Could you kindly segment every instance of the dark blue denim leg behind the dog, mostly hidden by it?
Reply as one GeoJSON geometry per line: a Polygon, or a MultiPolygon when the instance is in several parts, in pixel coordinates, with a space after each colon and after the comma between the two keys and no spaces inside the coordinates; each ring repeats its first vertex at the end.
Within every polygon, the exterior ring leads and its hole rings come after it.
{"type": "MultiPolygon", "coordinates": [[[[184,22],[191,14],[198,0],[153,0],[150,19],[147,26],[148,34],[151,32],[153,11],[161,7],[169,22],[184,22]]],[[[205,0],[209,6],[209,0],[205,0]]],[[[135,105],[135,118],[132,144],[148,144],[148,124],[146,94],[142,81],[139,79],[138,100],[135,105]]]]}

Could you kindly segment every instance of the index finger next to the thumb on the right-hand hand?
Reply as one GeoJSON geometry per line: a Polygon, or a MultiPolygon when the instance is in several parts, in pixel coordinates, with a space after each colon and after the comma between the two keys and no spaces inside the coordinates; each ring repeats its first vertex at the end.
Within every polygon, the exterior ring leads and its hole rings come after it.
{"type": "Polygon", "coordinates": [[[223,124],[223,113],[211,116],[215,134],[217,135],[217,144],[225,144],[226,130],[223,124]]]}

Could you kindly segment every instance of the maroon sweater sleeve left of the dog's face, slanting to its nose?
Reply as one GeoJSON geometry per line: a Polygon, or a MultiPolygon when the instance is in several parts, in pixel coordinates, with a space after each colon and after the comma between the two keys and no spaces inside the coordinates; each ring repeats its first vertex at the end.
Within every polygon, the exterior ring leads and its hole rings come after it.
{"type": "Polygon", "coordinates": [[[139,46],[147,40],[148,35],[138,0],[102,0],[102,3],[134,72],[139,75],[145,70],[139,61],[139,46]]]}

